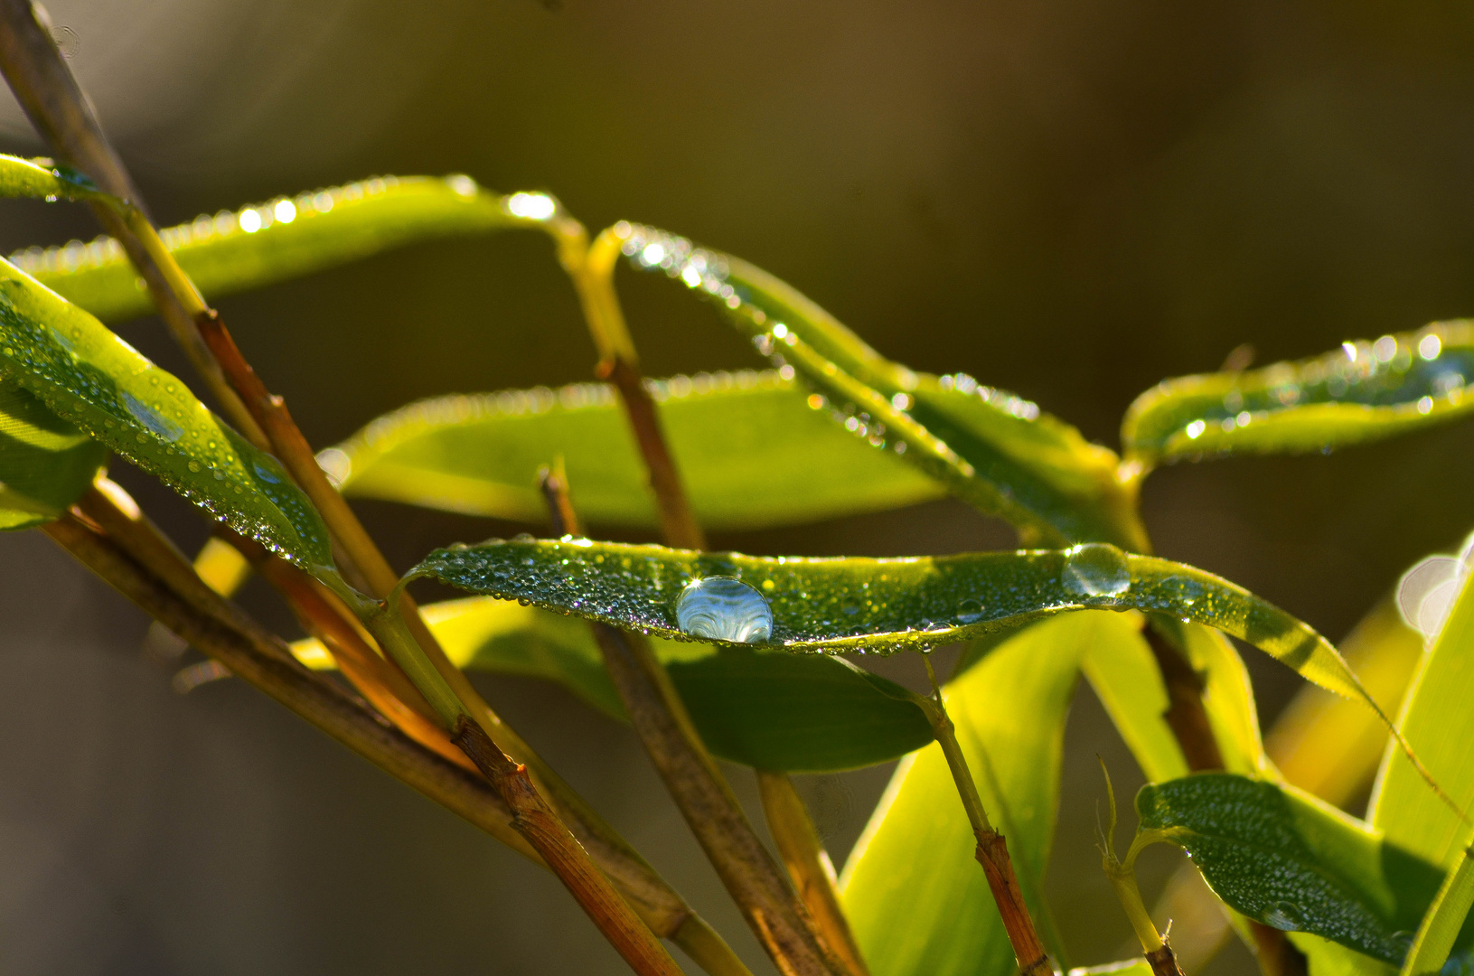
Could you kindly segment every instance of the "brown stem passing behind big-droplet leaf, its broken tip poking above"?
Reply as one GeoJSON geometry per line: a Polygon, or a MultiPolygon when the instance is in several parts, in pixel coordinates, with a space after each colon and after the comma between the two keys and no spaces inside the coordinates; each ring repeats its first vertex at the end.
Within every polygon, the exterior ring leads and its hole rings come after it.
{"type": "MultiPolygon", "coordinates": [[[[541,484],[554,531],[576,535],[578,516],[566,485],[547,470],[541,484]]],[[[747,821],[650,641],[593,621],[590,630],[629,724],[774,964],[787,976],[843,976],[846,969],[747,821]]]]}

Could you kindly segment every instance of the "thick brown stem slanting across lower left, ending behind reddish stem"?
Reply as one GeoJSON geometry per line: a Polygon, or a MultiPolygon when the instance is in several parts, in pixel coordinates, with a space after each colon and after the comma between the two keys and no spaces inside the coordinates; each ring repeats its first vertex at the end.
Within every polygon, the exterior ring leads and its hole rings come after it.
{"type": "Polygon", "coordinates": [[[511,812],[483,778],[447,762],[299,665],[286,644],[218,596],[196,603],[144,569],[116,540],[68,515],[44,526],[62,548],[149,616],[447,809],[526,857],[537,852],[511,827],[511,812]],[[231,618],[239,618],[231,621],[231,618]]]}

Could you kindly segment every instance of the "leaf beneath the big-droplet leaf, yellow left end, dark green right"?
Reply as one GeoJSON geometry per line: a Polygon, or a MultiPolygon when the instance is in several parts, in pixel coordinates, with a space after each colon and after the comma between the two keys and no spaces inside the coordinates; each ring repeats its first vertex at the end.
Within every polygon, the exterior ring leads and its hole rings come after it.
{"type": "MultiPolygon", "coordinates": [[[[463,668],[557,681],[604,714],[625,709],[584,621],[489,597],[422,607],[463,668]]],[[[746,647],[652,641],[708,747],[722,759],[786,773],[833,773],[895,759],[932,742],[915,705],[849,662],[746,647]],[[887,694],[884,689],[893,691],[887,694]]],[[[314,640],[292,646],[332,668],[314,640]]]]}

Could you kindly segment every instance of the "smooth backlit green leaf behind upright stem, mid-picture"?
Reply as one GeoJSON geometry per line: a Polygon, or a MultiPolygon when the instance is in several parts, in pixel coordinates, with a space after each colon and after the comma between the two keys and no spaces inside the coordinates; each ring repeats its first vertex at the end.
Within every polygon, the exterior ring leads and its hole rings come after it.
{"type": "MultiPolygon", "coordinates": [[[[652,391],[709,529],[792,525],[942,494],[811,410],[808,394],[777,373],[677,376],[652,391]]],[[[629,423],[603,383],[426,400],[321,457],[349,495],[542,522],[537,472],[554,456],[587,522],[659,525],[629,423]]]]}

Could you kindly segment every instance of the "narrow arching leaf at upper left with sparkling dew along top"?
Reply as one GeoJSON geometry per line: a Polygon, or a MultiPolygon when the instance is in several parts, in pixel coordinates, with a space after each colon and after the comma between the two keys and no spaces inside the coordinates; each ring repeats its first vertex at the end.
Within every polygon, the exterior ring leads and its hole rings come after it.
{"type": "MultiPolygon", "coordinates": [[[[556,211],[547,195],[501,196],[466,175],[382,177],[200,214],[161,236],[200,292],[215,299],[419,240],[535,224],[556,211]]],[[[111,237],[31,248],[12,261],[105,321],[152,310],[137,273],[111,237]]]]}

